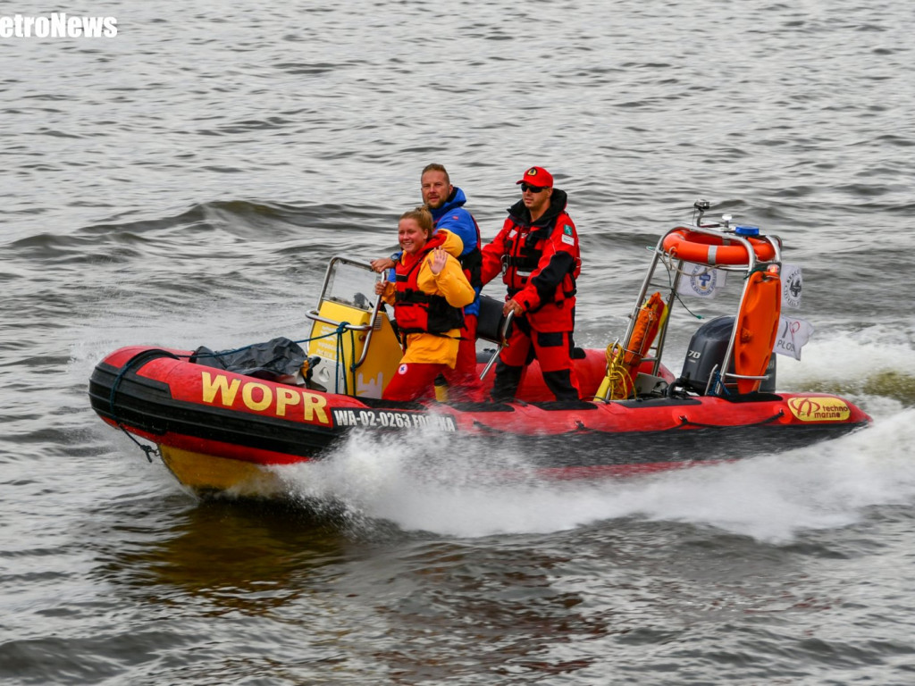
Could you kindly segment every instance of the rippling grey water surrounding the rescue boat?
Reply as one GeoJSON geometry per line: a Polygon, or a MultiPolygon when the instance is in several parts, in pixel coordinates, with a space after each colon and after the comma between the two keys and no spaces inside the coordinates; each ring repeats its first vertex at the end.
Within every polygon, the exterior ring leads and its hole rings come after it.
{"type": "Polygon", "coordinates": [[[915,681],[908,5],[66,11],[118,36],[0,39],[5,683],[915,681]],[[779,385],[874,426],[587,484],[353,440],[264,505],[192,498],[91,412],[114,348],[305,338],[328,258],[387,254],[432,161],[484,239],[554,173],[587,347],[695,199],[779,234],[816,327],[779,385]]]}

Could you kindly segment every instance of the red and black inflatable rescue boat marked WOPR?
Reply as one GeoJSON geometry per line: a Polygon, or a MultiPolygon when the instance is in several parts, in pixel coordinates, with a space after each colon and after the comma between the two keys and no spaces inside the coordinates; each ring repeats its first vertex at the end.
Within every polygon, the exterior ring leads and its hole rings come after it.
{"type": "MultiPolygon", "coordinates": [[[[334,258],[308,313],[309,338],[226,352],[122,348],[92,373],[92,407],[182,484],[243,495],[273,494],[274,466],[332,458],[354,431],[431,431],[484,449],[509,443],[539,473],[590,477],[776,452],[867,425],[840,397],[775,391],[781,243],[727,221],[703,223],[705,206],[697,209],[693,224],[658,241],[625,336],[606,350],[576,350],[579,402],[551,401],[536,360],[515,402],[380,400],[400,348],[380,301],[363,295],[377,276],[334,258]],[[662,364],[663,343],[693,264],[737,272],[743,287],[735,316],[695,332],[677,377],[662,364]]],[[[484,297],[480,336],[497,346],[480,353],[484,383],[510,326],[501,301],[484,297]]]]}

